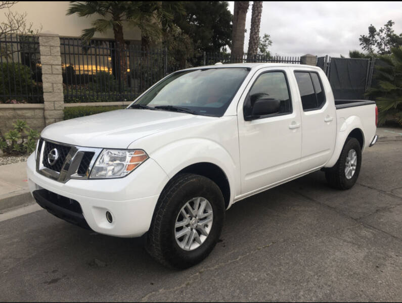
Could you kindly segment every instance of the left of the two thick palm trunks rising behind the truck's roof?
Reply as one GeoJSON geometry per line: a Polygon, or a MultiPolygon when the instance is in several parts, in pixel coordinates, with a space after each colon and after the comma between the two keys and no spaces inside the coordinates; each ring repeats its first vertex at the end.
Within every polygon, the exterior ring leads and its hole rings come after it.
{"type": "Polygon", "coordinates": [[[232,30],[231,62],[241,62],[244,55],[244,30],[248,1],[235,1],[232,30]]]}

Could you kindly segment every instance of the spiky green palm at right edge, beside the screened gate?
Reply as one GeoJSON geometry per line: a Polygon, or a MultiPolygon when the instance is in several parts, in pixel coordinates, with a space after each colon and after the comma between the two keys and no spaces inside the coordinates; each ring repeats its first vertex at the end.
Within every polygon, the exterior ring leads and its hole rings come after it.
{"type": "Polygon", "coordinates": [[[376,98],[379,124],[391,118],[402,125],[402,46],[391,48],[391,52],[391,56],[379,56],[386,65],[376,65],[378,84],[366,94],[376,98]]]}

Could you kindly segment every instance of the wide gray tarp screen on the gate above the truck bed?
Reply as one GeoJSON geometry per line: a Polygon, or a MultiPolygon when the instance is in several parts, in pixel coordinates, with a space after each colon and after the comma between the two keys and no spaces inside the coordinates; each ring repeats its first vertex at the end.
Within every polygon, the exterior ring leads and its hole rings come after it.
{"type": "Polygon", "coordinates": [[[331,58],[329,82],[335,99],[364,99],[369,60],[331,58]]]}

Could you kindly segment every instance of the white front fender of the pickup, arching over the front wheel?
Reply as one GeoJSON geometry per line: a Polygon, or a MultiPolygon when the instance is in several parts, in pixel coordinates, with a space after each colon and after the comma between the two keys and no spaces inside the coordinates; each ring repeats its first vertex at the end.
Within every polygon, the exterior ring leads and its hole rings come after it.
{"type": "MultiPolygon", "coordinates": [[[[230,153],[215,141],[204,138],[186,138],[166,144],[154,150],[150,158],[155,160],[171,179],[184,168],[208,162],[218,166],[229,181],[230,203],[240,188],[240,180],[236,179],[236,164],[230,153]]],[[[166,185],[166,184],[164,184],[166,185]]]]}

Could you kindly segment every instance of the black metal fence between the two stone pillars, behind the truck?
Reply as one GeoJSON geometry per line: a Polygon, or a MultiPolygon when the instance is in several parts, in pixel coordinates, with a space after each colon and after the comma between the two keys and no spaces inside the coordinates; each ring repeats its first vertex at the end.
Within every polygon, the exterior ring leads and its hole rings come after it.
{"type": "MultiPolygon", "coordinates": [[[[180,70],[166,49],[144,49],[114,41],[61,38],[64,102],[112,102],[133,100],[164,76],[180,70]]],[[[230,54],[205,54],[188,60],[192,66],[221,63],[281,62],[300,63],[296,57],[255,56],[231,58],[230,54]]],[[[188,66],[187,66],[188,67],[188,66]]]]}

